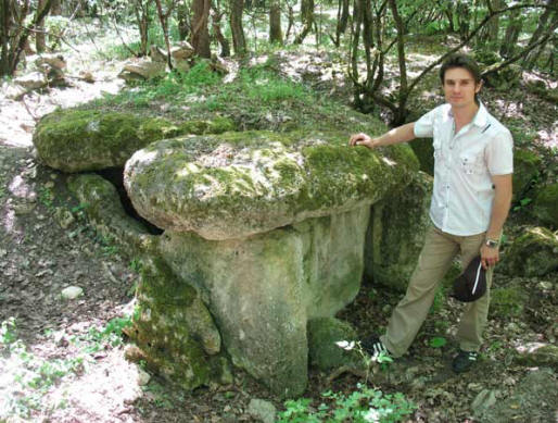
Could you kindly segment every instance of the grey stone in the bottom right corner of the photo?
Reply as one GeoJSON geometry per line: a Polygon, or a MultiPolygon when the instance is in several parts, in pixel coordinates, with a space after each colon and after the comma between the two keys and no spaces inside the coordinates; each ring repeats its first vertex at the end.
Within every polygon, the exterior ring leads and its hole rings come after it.
{"type": "Polygon", "coordinates": [[[483,423],[554,422],[558,409],[557,384],[556,374],[550,370],[534,370],[517,385],[511,396],[498,400],[493,407],[475,414],[475,421],[483,423]]]}

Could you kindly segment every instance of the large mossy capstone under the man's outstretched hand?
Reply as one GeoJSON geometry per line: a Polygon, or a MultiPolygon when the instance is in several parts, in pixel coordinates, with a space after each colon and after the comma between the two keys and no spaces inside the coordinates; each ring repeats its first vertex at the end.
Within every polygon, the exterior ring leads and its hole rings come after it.
{"type": "Polygon", "coordinates": [[[156,226],[230,239],[371,204],[418,170],[408,146],[381,155],[345,138],[246,132],[162,140],[131,157],[125,186],[156,226]]]}

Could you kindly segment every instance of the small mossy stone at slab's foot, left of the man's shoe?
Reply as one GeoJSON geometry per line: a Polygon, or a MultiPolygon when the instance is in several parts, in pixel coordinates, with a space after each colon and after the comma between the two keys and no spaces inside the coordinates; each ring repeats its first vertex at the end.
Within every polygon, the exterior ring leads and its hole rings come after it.
{"type": "Polygon", "coordinates": [[[310,363],[320,370],[330,370],[362,361],[356,345],[355,329],[335,318],[308,321],[308,350],[310,363]],[[338,343],[346,343],[340,345],[338,343]]]}

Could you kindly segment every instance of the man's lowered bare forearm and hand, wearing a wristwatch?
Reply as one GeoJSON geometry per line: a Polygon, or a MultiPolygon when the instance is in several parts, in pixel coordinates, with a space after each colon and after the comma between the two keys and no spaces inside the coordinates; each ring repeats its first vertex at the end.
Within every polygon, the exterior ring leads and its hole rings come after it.
{"type": "MultiPolygon", "coordinates": [[[[486,238],[498,239],[502,236],[504,222],[508,216],[509,207],[511,204],[511,174],[492,176],[494,184],[494,200],[492,202],[491,222],[486,238]]],[[[490,248],[485,245],[481,248],[481,261],[484,269],[494,265],[499,260],[498,248],[490,248]]]]}

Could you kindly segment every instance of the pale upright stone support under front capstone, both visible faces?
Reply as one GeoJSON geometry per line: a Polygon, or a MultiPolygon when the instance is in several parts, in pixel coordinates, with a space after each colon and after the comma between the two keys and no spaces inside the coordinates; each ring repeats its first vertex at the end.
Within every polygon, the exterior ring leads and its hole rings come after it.
{"type": "Polygon", "coordinates": [[[244,239],[165,232],[161,253],[208,304],[236,365],[279,396],[307,383],[308,319],[354,299],[369,208],[313,219],[244,239]]]}

